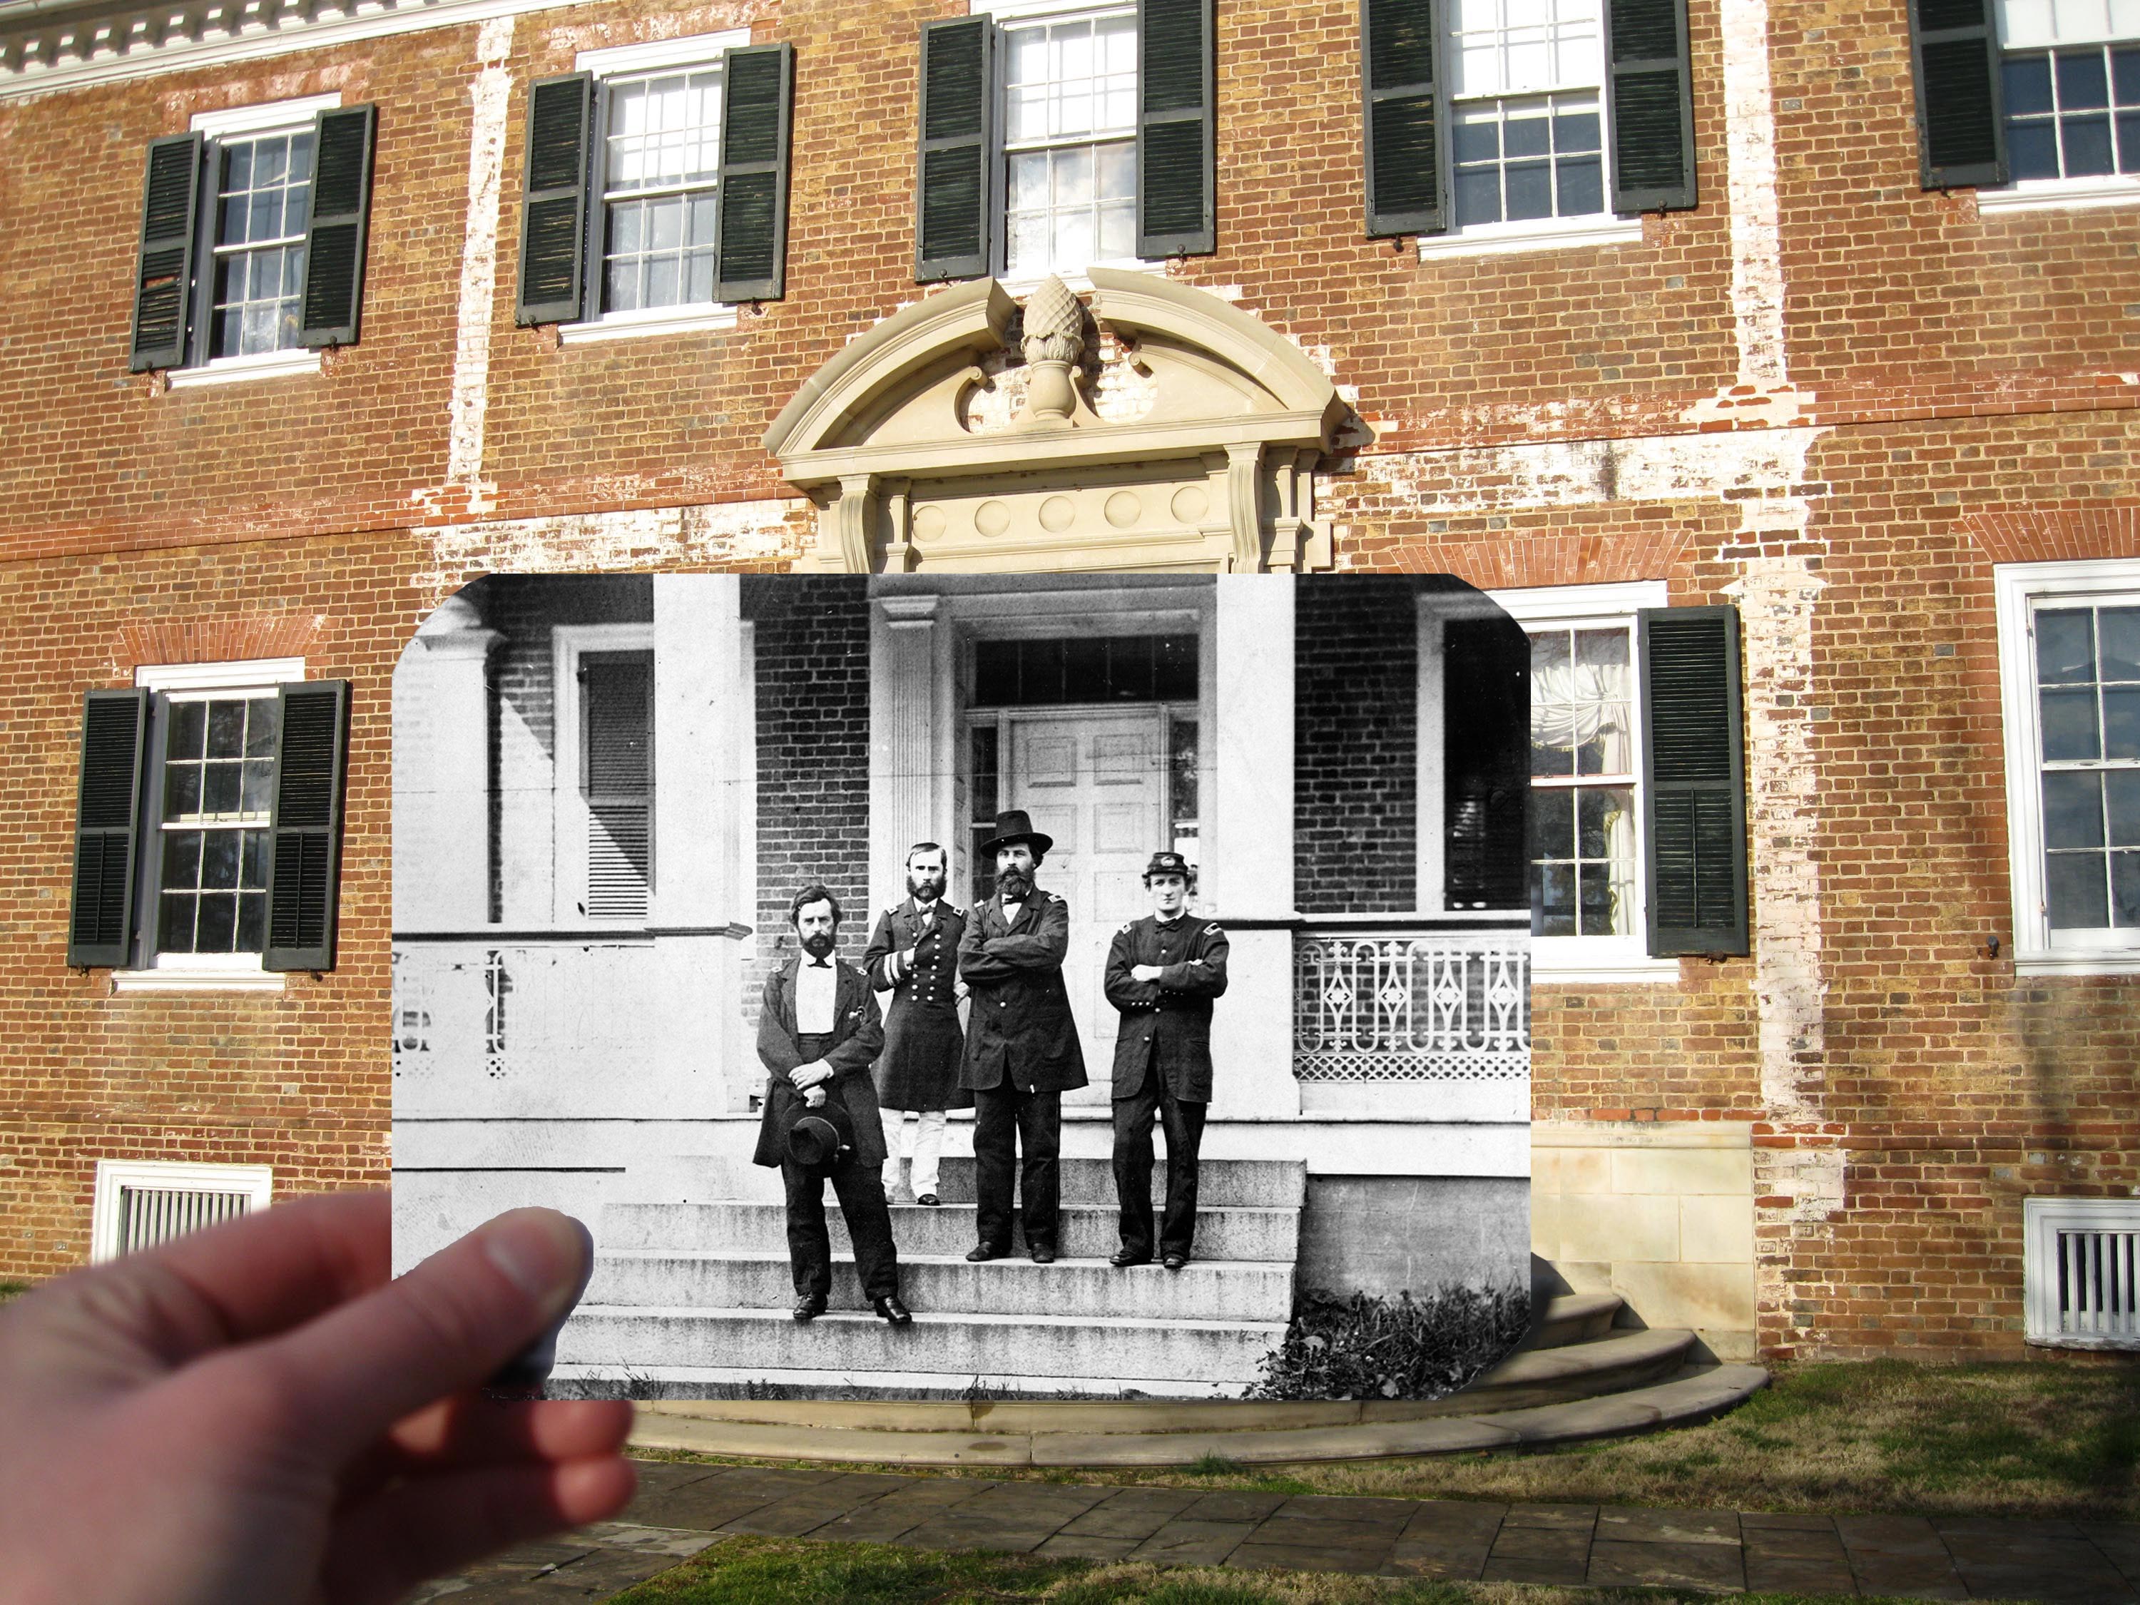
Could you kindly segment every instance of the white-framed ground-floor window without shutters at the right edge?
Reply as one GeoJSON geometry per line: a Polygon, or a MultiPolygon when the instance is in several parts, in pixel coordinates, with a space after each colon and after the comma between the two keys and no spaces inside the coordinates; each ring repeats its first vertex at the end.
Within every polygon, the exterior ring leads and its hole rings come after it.
{"type": "Polygon", "coordinates": [[[1992,569],[2014,965],[2140,974],[2140,561],[1992,569]]]}

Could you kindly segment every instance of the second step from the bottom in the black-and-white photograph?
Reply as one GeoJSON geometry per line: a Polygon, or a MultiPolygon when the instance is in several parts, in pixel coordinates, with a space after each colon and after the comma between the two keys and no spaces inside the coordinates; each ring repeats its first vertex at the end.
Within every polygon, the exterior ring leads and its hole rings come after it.
{"type": "MultiPolygon", "coordinates": [[[[835,1254],[832,1308],[867,1310],[854,1258],[835,1254]]],[[[1293,1314],[1293,1265],[1192,1260],[1115,1269],[1102,1258],[1034,1265],[1027,1258],[969,1265],[957,1254],[901,1254],[901,1297],[916,1312],[991,1316],[1085,1316],[1119,1320],[1260,1320],[1293,1314]]],[[[779,1252],[666,1248],[610,1250],[595,1258],[591,1303],[717,1310],[777,1310],[794,1301],[794,1275],[779,1252]]]]}

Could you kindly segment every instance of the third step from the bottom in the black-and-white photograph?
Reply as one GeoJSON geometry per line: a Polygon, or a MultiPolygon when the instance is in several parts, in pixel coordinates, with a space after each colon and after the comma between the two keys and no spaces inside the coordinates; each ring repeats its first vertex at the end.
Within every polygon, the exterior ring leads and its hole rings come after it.
{"type": "MultiPolygon", "coordinates": [[[[826,1198],[832,1252],[847,1252],[847,1224],[839,1205],[826,1198]]],[[[1293,1263],[1299,1256],[1301,1211],[1280,1207],[1222,1205],[1196,1211],[1196,1260],[1293,1263]]],[[[976,1241],[974,1205],[892,1205],[892,1243],[901,1256],[963,1256],[976,1241]]],[[[668,1252],[753,1252],[788,1254],[788,1211],[777,1203],[710,1205],[608,1205],[601,1211],[597,1245],[603,1254],[631,1248],[668,1252]]],[[[1025,1254],[1025,1233],[1012,1233],[1012,1248],[1025,1254]]],[[[1066,1205],[1064,1258],[1104,1260],[1121,1248],[1113,1205],[1066,1205]]]]}

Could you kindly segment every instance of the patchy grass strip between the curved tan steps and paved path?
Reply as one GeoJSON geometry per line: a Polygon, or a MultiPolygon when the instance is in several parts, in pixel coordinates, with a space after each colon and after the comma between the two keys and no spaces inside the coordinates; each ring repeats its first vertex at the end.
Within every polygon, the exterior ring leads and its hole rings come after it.
{"type": "Polygon", "coordinates": [[[2140,1365],[1785,1365],[1770,1389],[1716,1421],[1539,1453],[963,1474],[1496,1502],[2140,1522],[2140,1365]]]}

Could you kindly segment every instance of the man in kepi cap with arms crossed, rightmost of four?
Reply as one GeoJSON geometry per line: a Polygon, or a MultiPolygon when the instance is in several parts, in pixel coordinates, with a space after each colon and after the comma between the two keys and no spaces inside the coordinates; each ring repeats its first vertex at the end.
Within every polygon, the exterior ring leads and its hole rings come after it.
{"type": "Polygon", "coordinates": [[[1166,1218],[1160,1258],[1190,1263],[1196,1237],[1196,1149],[1211,1102],[1211,999],[1226,991],[1226,933],[1188,914],[1190,865],[1156,852],[1145,865],[1151,914],[1115,931],[1106,950],[1106,1002],[1121,1010],[1115,1036],[1115,1198],[1121,1250],[1115,1265],[1151,1263],[1151,1119],[1166,1128],[1166,1218]]]}

